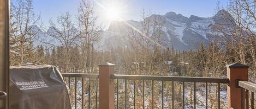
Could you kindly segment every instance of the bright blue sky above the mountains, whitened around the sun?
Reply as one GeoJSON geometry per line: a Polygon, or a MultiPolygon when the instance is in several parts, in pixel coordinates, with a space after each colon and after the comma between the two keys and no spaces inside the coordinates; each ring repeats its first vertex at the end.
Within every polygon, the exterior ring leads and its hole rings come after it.
{"type": "MultiPolygon", "coordinates": [[[[15,1],[15,0],[11,0],[15,1]]],[[[93,0],[91,0],[93,1],[93,0]]],[[[200,17],[210,17],[216,13],[218,0],[95,0],[98,24],[108,28],[111,21],[122,20],[139,21],[141,10],[150,9],[153,14],[164,15],[166,12],[174,11],[176,14],[200,17]],[[104,8],[105,7],[105,8],[104,8]],[[107,10],[106,10],[107,9],[107,10]],[[114,16],[114,18],[110,17],[114,16]]],[[[34,12],[40,13],[42,21],[47,26],[49,19],[56,20],[61,12],[70,12],[75,19],[80,0],[34,0],[34,12]]],[[[221,0],[221,7],[227,5],[228,0],[221,0]]]]}

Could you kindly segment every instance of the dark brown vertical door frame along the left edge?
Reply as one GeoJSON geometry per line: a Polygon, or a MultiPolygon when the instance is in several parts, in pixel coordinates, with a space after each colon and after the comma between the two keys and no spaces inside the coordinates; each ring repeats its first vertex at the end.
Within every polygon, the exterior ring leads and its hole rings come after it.
{"type": "Polygon", "coordinates": [[[9,0],[0,0],[0,108],[9,108],[9,0]],[[7,96],[5,93],[7,93],[7,96]]]}

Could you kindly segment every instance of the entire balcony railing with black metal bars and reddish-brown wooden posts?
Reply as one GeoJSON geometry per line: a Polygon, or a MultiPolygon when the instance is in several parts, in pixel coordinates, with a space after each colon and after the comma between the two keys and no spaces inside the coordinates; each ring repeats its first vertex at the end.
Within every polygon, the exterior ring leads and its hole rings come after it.
{"type": "Polygon", "coordinates": [[[117,75],[113,65],[100,66],[99,74],[62,75],[73,108],[254,108],[256,84],[248,82],[248,67],[233,65],[228,66],[228,78],[117,75]],[[209,97],[209,92],[216,95],[209,97]],[[186,102],[187,93],[192,94],[193,102],[186,102]]]}

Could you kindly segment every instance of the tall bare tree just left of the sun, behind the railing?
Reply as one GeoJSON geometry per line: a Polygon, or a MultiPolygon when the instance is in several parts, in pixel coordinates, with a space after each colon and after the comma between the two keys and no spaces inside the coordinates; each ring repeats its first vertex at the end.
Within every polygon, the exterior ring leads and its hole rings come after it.
{"type": "Polygon", "coordinates": [[[97,16],[94,16],[94,3],[81,0],[78,8],[79,47],[82,52],[82,66],[86,72],[90,71],[93,62],[95,43],[100,40],[102,27],[96,25],[97,16]]]}

